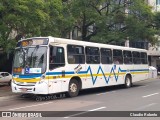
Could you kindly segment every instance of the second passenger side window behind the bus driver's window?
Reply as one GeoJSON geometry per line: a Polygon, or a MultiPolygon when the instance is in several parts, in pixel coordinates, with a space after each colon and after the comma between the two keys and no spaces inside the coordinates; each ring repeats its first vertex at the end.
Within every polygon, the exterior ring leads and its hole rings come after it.
{"type": "Polygon", "coordinates": [[[99,64],[100,63],[100,53],[97,47],[86,47],[86,62],[88,64],[99,64]]]}

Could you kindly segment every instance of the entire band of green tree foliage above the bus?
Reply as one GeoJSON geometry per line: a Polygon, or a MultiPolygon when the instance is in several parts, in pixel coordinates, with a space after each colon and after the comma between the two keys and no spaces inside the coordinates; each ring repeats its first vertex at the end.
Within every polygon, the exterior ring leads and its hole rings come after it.
{"type": "Polygon", "coordinates": [[[101,43],[155,42],[160,13],[145,0],[0,0],[0,46],[10,52],[22,37],[67,37],[101,43]],[[155,29],[156,28],[156,29],[155,29]]]}

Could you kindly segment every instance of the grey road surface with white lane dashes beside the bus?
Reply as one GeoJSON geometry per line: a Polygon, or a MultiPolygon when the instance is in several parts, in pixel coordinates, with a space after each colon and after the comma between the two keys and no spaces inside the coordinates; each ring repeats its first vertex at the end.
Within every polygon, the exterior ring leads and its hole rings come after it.
{"type": "MultiPolygon", "coordinates": [[[[160,79],[140,81],[129,89],[114,86],[84,90],[75,98],[35,102],[30,99],[14,97],[0,100],[0,110],[77,111],[78,115],[86,115],[88,111],[160,111],[160,79]]],[[[77,114],[70,113],[64,118],[73,119],[72,117],[76,117],[77,114]]],[[[45,115],[53,116],[54,114],[46,112],[45,115]]],[[[83,119],[87,118],[83,117],[83,119]]],[[[112,117],[111,119],[116,118],[112,117]]],[[[121,120],[121,118],[119,119],[121,120]]],[[[144,118],[140,119],[143,120],[144,118]]],[[[122,120],[125,120],[125,118],[122,120]]]]}

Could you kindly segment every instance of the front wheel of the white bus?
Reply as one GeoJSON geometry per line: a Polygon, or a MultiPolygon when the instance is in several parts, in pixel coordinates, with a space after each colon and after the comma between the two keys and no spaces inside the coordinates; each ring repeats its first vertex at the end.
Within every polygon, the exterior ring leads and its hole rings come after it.
{"type": "Polygon", "coordinates": [[[68,96],[69,97],[76,97],[79,93],[79,85],[77,80],[72,79],[69,83],[69,88],[68,88],[68,96]]]}

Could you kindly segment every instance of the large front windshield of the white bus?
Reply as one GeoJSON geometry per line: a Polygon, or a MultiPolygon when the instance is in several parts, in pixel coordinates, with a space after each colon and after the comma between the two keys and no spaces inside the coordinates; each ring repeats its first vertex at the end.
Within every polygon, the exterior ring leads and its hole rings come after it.
{"type": "Polygon", "coordinates": [[[14,73],[44,73],[47,63],[47,47],[35,46],[16,49],[13,63],[14,73]]]}

